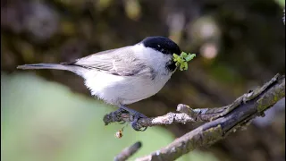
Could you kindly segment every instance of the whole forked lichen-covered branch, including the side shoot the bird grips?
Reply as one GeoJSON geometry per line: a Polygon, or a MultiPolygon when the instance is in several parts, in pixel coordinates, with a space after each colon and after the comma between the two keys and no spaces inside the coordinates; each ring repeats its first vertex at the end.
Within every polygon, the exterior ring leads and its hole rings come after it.
{"type": "MultiPolygon", "coordinates": [[[[219,108],[191,109],[179,105],[177,111],[181,114],[168,113],[154,118],[142,118],[139,127],[171,123],[208,122],[193,131],[174,140],[165,148],[161,148],[138,161],[175,160],[189,151],[203,146],[209,146],[222,140],[229,133],[244,129],[253,118],[263,116],[264,111],[272,107],[282,97],[285,97],[285,76],[275,75],[272,80],[254,91],[237,98],[231,105],[219,108]]],[[[115,111],[105,115],[105,124],[114,122],[130,122],[133,116],[127,112],[115,111]]]]}

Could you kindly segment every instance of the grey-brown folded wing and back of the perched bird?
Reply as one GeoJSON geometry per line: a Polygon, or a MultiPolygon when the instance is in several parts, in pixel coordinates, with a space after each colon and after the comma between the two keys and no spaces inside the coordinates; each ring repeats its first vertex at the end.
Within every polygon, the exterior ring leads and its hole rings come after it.
{"type": "Polygon", "coordinates": [[[122,47],[88,55],[67,65],[77,65],[121,76],[138,76],[145,74],[154,77],[154,70],[136,57],[132,47],[122,47]]]}

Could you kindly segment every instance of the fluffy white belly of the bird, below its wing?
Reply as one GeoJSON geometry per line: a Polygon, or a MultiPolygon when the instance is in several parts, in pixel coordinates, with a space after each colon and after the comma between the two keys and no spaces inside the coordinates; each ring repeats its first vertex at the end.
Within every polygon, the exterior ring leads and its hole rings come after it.
{"type": "Polygon", "coordinates": [[[86,86],[92,95],[105,100],[106,103],[120,106],[155,95],[170,77],[164,75],[152,80],[148,77],[122,77],[97,72],[90,74],[90,77],[86,79],[86,86]]]}

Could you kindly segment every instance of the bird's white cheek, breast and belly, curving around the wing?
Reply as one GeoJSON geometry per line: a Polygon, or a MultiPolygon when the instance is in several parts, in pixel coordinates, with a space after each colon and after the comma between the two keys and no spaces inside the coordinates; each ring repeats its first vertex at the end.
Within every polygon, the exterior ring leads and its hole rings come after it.
{"type": "Polygon", "coordinates": [[[172,72],[165,68],[169,61],[157,51],[136,45],[133,47],[137,58],[146,62],[156,73],[152,79],[147,75],[119,76],[106,72],[91,70],[84,75],[85,84],[95,95],[106,103],[120,106],[128,105],[155,95],[171,78],[172,72]]]}

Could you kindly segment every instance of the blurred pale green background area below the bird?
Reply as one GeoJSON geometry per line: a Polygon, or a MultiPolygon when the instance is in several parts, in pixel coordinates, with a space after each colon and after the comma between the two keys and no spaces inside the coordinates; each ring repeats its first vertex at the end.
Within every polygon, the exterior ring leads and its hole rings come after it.
{"type": "MultiPolygon", "coordinates": [[[[160,127],[146,132],[125,128],[122,139],[117,139],[114,133],[122,125],[105,126],[102,121],[113,107],[34,74],[2,74],[1,92],[3,160],[113,160],[123,148],[140,140],[143,147],[134,159],[174,139],[160,127]]],[[[214,160],[211,154],[199,152],[181,160],[192,158],[214,160]]]]}

